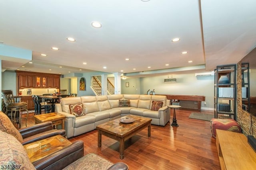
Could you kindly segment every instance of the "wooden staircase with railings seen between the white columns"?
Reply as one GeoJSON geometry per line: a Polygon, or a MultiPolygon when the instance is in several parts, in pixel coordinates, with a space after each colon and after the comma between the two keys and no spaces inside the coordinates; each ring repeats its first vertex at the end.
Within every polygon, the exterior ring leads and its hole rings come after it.
{"type": "MultiPolygon", "coordinates": [[[[94,91],[94,94],[96,96],[101,96],[102,95],[102,85],[100,80],[96,76],[92,76],[92,84],[91,84],[91,89],[94,91]]],[[[108,94],[114,94],[114,85],[108,80],[107,81],[107,91],[108,94]]]]}

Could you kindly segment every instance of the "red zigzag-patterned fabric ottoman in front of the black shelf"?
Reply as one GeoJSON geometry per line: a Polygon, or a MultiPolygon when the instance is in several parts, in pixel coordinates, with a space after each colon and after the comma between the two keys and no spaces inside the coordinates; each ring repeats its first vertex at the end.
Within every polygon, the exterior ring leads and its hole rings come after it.
{"type": "Polygon", "coordinates": [[[241,127],[234,119],[211,119],[212,137],[216,139],[216,129],[242,133],[241,127]]]}

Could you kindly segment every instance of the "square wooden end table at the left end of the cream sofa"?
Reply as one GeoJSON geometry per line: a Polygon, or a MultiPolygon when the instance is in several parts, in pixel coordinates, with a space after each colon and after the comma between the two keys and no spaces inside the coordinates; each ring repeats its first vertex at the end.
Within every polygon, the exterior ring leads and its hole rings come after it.
{"type": "Polygon", "coordinates": [[[64,120],[66,118],[65,115],[59,113],[44,113],[41,115],[34,115],[36,124],[43,123],[47,121],[51,121],[52,125],[61,125],[62,129],[64,129],[64,120]]]}

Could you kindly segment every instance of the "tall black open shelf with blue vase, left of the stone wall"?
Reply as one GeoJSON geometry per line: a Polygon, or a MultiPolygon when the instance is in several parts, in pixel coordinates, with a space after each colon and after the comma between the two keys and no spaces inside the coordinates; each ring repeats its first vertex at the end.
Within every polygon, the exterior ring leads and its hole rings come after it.
{"type": "Polygon", "coordinates": [[[214,75],[214,117],[236,120],[236,64],[217,66],[214,75]]]}

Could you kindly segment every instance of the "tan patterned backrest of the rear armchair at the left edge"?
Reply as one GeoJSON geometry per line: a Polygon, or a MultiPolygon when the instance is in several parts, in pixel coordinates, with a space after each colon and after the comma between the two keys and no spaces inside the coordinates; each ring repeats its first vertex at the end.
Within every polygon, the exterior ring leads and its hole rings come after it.
{"type": "Polygon", "coordinates": [[[16,137],[16,139],[18,139],[20,143],[23,141],[23,138],[20,132],[12,124],[9,117],[6,114],[4,114],[2,111],[0,111],[0,130],[16,137]]]}

